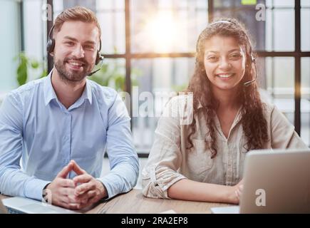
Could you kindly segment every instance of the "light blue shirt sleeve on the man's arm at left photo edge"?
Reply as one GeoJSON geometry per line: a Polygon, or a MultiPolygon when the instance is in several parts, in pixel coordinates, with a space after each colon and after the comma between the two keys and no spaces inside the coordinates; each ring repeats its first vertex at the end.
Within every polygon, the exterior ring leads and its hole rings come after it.
{"type": "Polygon", "coordinates": [[[4,195],[42,199],[49,182],[21,170],[23,115],[19,96],[10,93],[0,109],[0,192],[4,195]]]}

